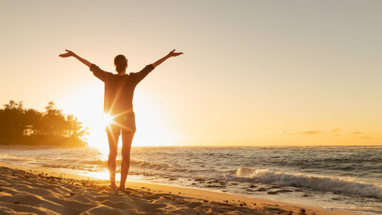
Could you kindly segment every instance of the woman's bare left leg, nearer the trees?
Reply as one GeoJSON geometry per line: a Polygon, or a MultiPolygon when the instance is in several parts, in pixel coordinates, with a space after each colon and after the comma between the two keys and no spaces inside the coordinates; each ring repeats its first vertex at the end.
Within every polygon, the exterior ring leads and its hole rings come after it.
{"type": "Polygon", "coordinates": [[[109,169],[110,188],[117,189],[117,185],[115,184],[115,159],[117,158],[119,135],[115,136],[110,132],[106,133],[109,142],[109,158],[107,160],[107,168],[109,169]]]}

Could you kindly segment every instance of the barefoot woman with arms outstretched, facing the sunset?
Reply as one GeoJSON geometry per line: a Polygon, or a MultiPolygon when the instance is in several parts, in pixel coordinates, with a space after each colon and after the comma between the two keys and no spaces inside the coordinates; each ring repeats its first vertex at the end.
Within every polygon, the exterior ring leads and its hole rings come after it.
{"type": "Polygon", "coordinates": [[[133,111],[133,95],[136,85],[147,76],[155,67],[162,64],[170,57],[183,54],[175,52],[175,49],[165,57],[157,60],[154,64],[149,64],[140,72],[126,74],[128,60],[124,55],[117,55],[114,58],[115,71],[117,74],[105,72],[91,64],[89,61],[79,57],[72,51],[58,55],[59,57],[75,57],[90,68],[93,75],[105,83],[104,113],[113,119],[108,124],[105,131],[109,142],[109,157],[107,167],[109,169],[110,187],[117,189],[115,184],[115,159],[117,158],[117,146],[120,134],[122,134],[122,163],[121,163],[121,184],[120,190],[126,191],[125,182],[129,172],[131,142],[136,131],[135,115],[133,111]]]}

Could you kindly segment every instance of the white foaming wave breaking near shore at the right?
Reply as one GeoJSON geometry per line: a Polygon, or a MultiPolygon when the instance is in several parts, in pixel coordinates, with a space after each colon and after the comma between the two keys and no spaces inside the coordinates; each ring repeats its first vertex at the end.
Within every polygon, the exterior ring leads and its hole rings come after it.
{"type": "Polygon", "coordinates": [[[304,174],[272,173],[269,169],[238,169],[236,176],[251,178],[254,182],[274,184],[290,187],[304,187],[311,189],[337,191],[352,194],[377,197],[382,199],[382,184],[372,184],[356,181],[351,177],[326,178],[306,176],[304,174]]]}

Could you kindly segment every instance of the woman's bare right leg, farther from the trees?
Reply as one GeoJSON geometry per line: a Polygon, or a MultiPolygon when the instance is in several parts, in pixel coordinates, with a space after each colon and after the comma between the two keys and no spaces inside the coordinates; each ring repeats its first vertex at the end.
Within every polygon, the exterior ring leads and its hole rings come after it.
{"type": "Polygon", "coordinates": [[[130,167],[130,150],[133,142],[134,133],[122,135],[122,163],[121,163],[121,191],[126,191],[125,183],[130,167]]]}

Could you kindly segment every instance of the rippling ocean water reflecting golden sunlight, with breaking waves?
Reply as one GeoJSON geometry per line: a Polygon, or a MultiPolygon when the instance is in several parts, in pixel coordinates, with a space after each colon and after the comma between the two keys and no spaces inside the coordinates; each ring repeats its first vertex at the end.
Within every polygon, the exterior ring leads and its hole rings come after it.
{"type": "MultiPolygon", "coordinates": [[[[107,157],[93,147],[0,150],[3,163],[101,179],[107,157]]],[[[380,214],[382,146],[132,147],[128,180],[380,214]]]]}

